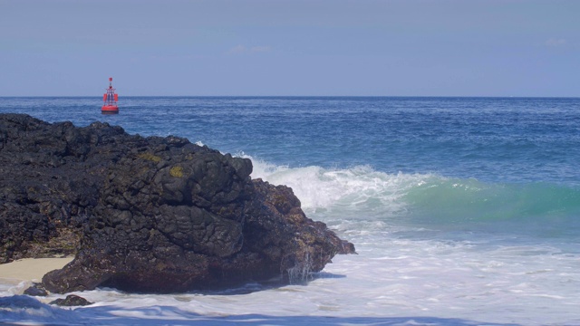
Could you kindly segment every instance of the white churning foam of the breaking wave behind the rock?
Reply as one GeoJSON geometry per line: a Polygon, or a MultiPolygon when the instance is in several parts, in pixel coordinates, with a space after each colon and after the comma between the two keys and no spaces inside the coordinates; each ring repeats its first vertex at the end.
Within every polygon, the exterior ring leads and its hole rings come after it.
{"type": "MultiPolygon", "coordinates": [[[[251,158],[241,154],[242,157],[251,158]]],[[[431,175],[387,174],[369,166],[344,169],[320,167],[288,168],[251,158],[252,177],[274,185],[292,187],[305,211],[351,210],[357,214],[393,216],[405,210],[402,200],[411,187],[417,187],[431,175]]]]}

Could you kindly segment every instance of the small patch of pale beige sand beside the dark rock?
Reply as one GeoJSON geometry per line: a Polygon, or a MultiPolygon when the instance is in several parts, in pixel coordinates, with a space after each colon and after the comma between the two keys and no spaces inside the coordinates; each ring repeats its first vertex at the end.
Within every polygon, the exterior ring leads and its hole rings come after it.
{"type": "Polygon", "coordinates": [[[0,264],[0,279],[5,281],[34,281],[40,282],[45,273],[61,269],[65,264],[73,261],[73,257],[66,258],[35,258],[21,259],[8,264],[0,264]]]}

